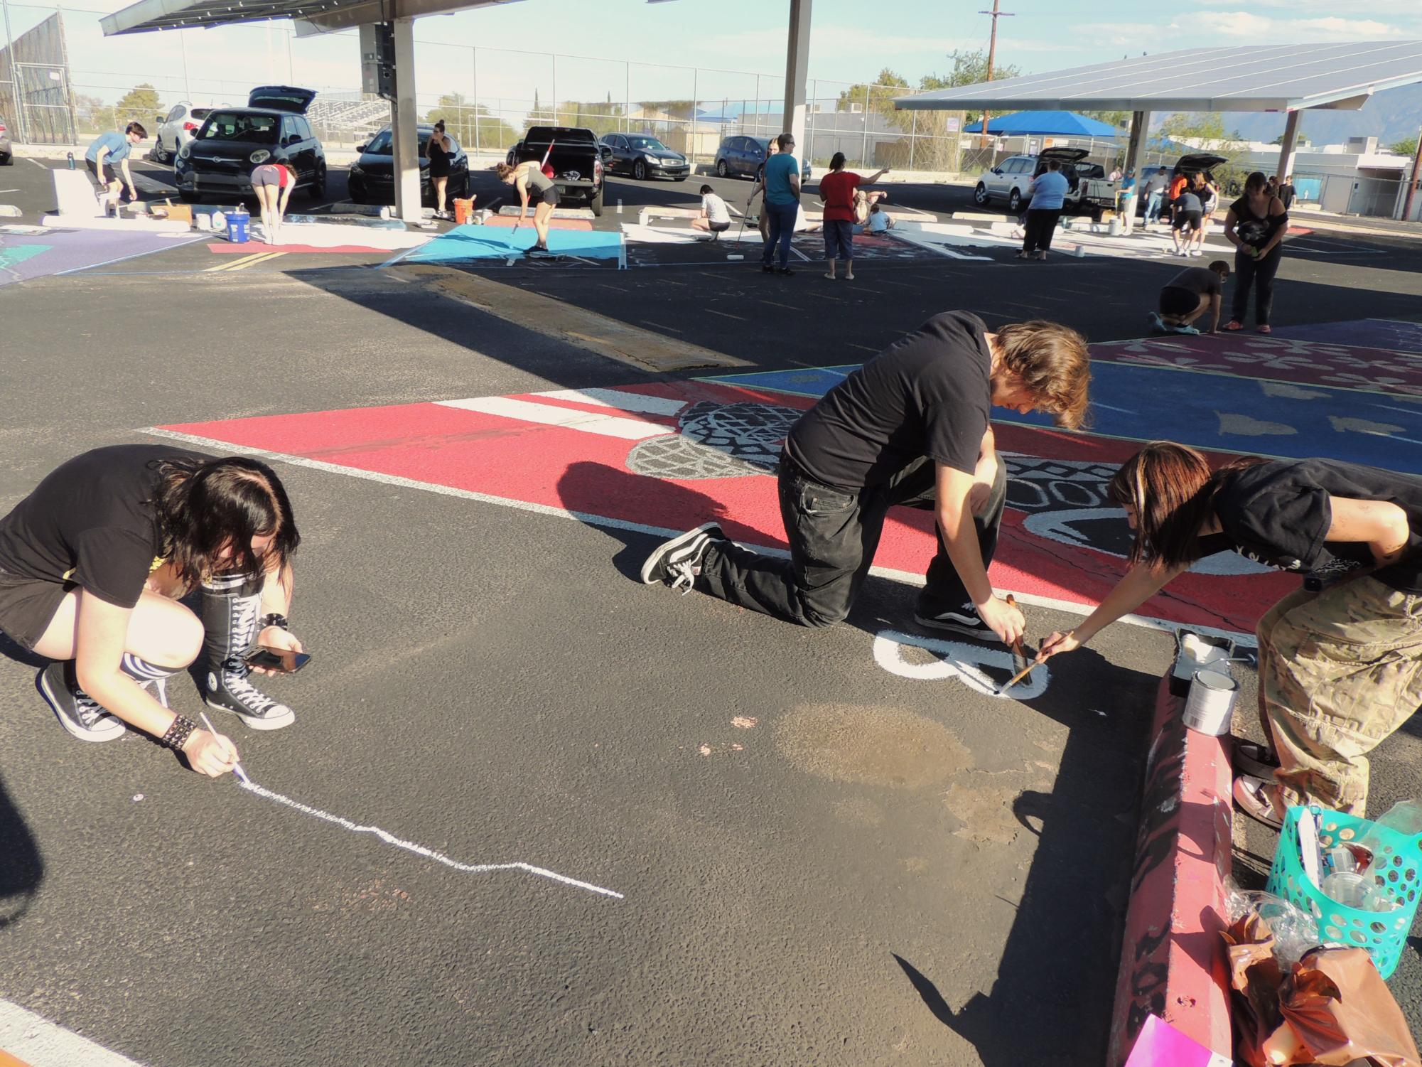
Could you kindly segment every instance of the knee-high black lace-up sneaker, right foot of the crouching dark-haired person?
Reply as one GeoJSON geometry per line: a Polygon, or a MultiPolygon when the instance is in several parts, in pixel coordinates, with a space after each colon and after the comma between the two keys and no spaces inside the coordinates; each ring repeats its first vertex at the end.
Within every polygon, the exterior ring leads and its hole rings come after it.
{"type": "Polygon", "coordinates": [[[253,730],[280,730],[296,714],[247,681],[245,657],[257,639],[262,582],[262,575],[220,575],[202,583],[202,699],[253,730]]]}

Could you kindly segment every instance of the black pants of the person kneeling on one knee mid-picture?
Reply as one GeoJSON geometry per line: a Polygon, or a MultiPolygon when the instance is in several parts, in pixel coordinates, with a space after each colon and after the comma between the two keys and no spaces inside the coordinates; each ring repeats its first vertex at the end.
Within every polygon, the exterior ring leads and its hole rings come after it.
{"type": "MultiPolygon", "coordinates": [[[[903,504],[931,511],[937,504],[934,478],[934,462],[921,458],[883,485],[849,492],[820,485],[781,457],[781,518],[791,558],[765,556],[729,541],[712,541],[701,558],[695,588],[801,626],[832,626],[849,615],[865,583],[889,508],[903,504]]],[[[998,457],[987,508],[973,518],[984,566],[997,551],[1005,499],[1007,465],[998,457]]],[[[971,599],[948,559],[937,524],[934,531],[939,552],[929,563],[927,585],[919,595],[920,615],[939,615],[971,599]]]]}

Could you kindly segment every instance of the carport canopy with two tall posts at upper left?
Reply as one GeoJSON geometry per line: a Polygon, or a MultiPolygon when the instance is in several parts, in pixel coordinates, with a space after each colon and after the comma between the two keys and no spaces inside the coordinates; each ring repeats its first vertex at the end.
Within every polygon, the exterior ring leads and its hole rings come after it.
{"type": "MultiPolygon", "coordinates": [[[[333,33],[381,21],[394,24],[395,104],[391,135],[395,149],[395,212],[407,222],[419,218],[419,149],[415,114],[414,21],[431,14],[454,14],[513,0],[138,0],[100,24],[105,37],[154,30],[257,23],[292,18],[297,37],[333,33]]],[[[665,0],[647,0],[665,3],[665,0]]],[[[813,0],[789,0],[785,60],[785,127],[805,144],[805,81],[809,65],[809,23],[813,0]]],[[[592,7],[593,4],[590,4],[592,7]]]]}

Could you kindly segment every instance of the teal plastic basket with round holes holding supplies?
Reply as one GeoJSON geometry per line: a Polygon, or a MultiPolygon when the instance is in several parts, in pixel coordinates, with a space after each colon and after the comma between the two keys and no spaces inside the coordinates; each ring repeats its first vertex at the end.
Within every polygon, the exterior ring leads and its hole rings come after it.
{"type": "Polygon", "coordinates": [[[1294,807],[1284,817],[1284,828],[1274,852],[1274,868],[1268,872],[1266,889],[1291,901],[1318,920],[1318,936],[1325,942],[1358,946],[1368,950],[1382,977],[1392,977],[1398,959],[1412,930],[1422,893],[1422,834],[1406,837],[1379,827],[1357,815],[1328,811],[1317,805],[1294,807]],[[1308,875],[1298,851],[1298,819],[1304,812],[1318,815],[1318,844],[1324,848],[1372,837],[1381,855],[1374,855],[1375,881],[1398,905],[1392,912],[1365,912],[1348,908],[1325,896],[1308,875]]]}

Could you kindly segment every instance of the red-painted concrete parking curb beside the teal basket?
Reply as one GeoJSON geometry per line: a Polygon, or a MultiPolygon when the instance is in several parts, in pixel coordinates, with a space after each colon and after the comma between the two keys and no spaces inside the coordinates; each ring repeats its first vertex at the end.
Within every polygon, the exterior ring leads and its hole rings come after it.
{"type": "Polygon", "coordinates": [[[1148,1016],[1233,1058],[1224,942],[1231,795],[1227,737],[1187,730],[1169,679],[1156,693],[1108,1067],[1148,1016]]]}

